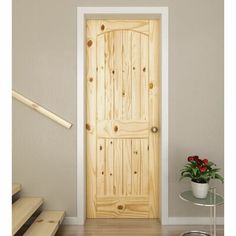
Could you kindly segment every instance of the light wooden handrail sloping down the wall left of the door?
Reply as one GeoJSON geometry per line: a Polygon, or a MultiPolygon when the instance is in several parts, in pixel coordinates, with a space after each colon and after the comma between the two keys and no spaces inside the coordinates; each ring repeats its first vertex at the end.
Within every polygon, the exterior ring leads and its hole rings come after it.
{"type": "Polygon", "coordinates": [[[25,96],[17,93],[16,91],[12,90],[12,97],[17,99],[18,101],[24,103],[25,105],[31,107],[32,109],[38,111],[39,113],[47,116],[48,118],[52,119],[53,121],[57,122],[58,124],[66,127],[67,129],[70,129],[72,124],[58,115],[52,113],[51,111],[48,111],[47,109],[43,108],[42,106],[38,105],[37,103],[31,101],[30,99],[26,98],[25,96]]]}

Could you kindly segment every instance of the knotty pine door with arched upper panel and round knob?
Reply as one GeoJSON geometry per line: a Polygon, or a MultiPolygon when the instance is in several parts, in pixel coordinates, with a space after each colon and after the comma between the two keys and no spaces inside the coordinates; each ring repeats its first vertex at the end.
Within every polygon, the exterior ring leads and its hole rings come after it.
{"type": "Polygon", "coordinates": [[[87,217],[159,216],[159,20],[87,20],[87,217]]]}

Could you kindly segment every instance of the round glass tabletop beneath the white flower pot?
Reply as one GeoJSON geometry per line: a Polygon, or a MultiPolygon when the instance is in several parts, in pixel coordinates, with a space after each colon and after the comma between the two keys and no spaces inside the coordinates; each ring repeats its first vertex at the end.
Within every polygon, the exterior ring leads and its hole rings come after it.
{"type": "Polygon", "coordinates": [[[198,206],[218,206],[224,203],[224,198],[220,196],[219,194],[214,194],[212,192],[208,192],[206,198],[196,198],[193,196],[193,193],[191,190],[182,192],[179,197],[187,202],[191,202],[194,205],[198,206]]]}

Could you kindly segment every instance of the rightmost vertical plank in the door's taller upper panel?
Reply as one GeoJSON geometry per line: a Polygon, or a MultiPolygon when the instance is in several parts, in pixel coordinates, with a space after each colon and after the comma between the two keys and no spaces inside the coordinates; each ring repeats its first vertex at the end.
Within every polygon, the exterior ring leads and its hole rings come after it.
{"type": "Polygon", "coordinates": [[[141,34],[141,119],[148,120],[148,37],[141,34]]]}

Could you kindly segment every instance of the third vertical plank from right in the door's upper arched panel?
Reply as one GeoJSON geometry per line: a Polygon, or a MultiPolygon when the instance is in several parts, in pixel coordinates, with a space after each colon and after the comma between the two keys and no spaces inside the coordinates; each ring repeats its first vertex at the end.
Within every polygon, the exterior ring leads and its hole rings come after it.
{"type": "Polygon", "coordinates": [[[122,53],[122,63],[123,63],[123,119],[130,120],[132,117],[131,104],[132,104],[132,32],[124,30],[123,31],[123,53],[122,53]]]}

